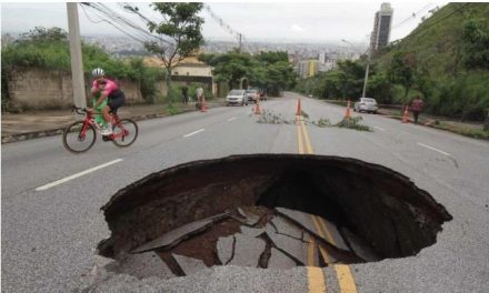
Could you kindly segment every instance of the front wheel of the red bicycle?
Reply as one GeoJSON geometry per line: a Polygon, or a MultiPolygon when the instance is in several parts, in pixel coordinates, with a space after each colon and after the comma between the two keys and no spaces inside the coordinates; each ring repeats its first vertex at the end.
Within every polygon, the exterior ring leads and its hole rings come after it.
{"type": "Polygon", "coordinates": [[[83,130],[83,121],[77,121],[64,129],[64,149],[73,153],[81,153],[88,151],[96,143],[96,129],[91,124],[87,124],[87,129],[83,130]]]}

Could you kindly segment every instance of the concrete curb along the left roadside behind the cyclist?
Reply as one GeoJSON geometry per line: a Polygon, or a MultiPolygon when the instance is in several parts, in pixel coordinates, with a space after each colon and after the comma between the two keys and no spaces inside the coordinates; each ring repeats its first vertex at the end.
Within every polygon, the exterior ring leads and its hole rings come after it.
{"type": "MultiPolygon", "coordinates": [[[[222,107],[220,104],[217,104],[216,107],[211,108],[218,108],[222,107]]],[[[188,112],[196,112],[194,109],[184,109],[178,114],[183,114],[188,112]]],[[[177,115],[178,115],[177,114],[177,115]]],[[[134,121],[142,121],[142,120],[149,120],[149,119],[157,119],[157,118],[164,118],[169,117],[168,113],[154,113],[154,114],[146,114],[146,115],[132,115],[127,117],[128,119],[132,119],[134,121]]],[[[19,133],[19,134],[12,134],[8,137],[2,137],[1,144],[11,143],[11,142],[18,142],[18,141],[26,141],[31,139],[40,139],[46,137],[54,137],[63,133],[64,128],[56,128],[56,129],[48,129],[48,130],[40,130],[40,131],[32,131],[32,132],[26,132],[26,133],[19,133]]]]}

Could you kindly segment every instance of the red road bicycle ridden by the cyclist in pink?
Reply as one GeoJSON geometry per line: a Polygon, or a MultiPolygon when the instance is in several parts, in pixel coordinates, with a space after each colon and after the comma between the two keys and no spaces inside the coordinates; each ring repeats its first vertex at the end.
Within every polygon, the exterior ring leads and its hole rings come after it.
{"type": "MultiPolygon", "coordinates": [[[[73,153],[81,153],[88,151],[97,140],[97,132],[101,134],[100,127],[96,123],[94,113],[86,108],[74,107],[73,111],[77,114],[86,115],[84,120],[80,120],[68,125],[63,131],[63,145],[73,153]]],[[[112,134],[102,135],[103,141],[112,141],[118,146],[129,146],[138,138],[138,124],[131,119],[119,119],[114,113],[114,124],[112,127],[112,134]]]]}

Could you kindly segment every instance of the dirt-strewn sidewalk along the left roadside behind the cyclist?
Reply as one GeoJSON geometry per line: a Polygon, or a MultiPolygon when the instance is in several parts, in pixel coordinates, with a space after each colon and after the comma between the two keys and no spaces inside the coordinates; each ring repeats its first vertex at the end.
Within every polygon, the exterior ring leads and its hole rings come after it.
{"type": "MultiPolygon", "coordinates": [[[[176,103],[179,113],[196,111],[196,102],[188,105],[176,103]]],[[[224,99],[213,99],[207,102],[208,108],[226,105],[224,99]]],[[[136,121],[170,115],[167,104],[123,105],[119,117],[131,118],[136,121]]],[[[2,144],[36,138],[61,134],[71,122],[82,120],[82,115],[71,110],[29,111],[20,114],[2,113],[2,144]]]]}

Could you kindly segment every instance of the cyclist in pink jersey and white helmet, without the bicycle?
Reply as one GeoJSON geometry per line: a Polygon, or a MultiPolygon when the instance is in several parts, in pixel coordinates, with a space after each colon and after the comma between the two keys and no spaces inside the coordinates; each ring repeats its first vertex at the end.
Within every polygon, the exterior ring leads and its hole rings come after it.
{"type": "Polygon", "coordinates": [[[126,102],[126,95],[119,89],[116,81],[106,77],[103,69],[93,69],[92,75],[91,93],[93,97],[93,109],[101,112],[103,117],[103,120],[99,118],[97,122],[100,125],[101,134],[110,135],[112,134],[112,124],[114,123],[110,113],[117,114],[117,109],[126,102]]]}

